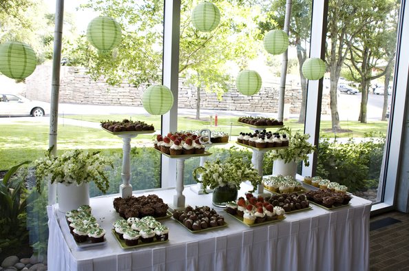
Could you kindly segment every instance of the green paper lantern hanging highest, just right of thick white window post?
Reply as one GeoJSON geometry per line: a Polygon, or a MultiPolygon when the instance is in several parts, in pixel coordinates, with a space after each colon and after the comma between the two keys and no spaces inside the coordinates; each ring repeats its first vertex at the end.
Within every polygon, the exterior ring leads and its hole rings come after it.
{"type": "Polygon", "coordinates": [[[220,23],[220,11],[213,3],[200,3],[191,12],[191,23],[199,31],[211,32],[220,23]]]}

